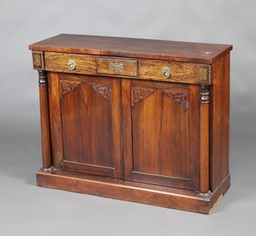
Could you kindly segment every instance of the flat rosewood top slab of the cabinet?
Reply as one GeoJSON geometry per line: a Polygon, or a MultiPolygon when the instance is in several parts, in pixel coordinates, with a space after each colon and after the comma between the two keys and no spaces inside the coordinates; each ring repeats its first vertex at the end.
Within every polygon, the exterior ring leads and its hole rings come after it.
{"type": "Polygon", "coordinates": [[[141,38],[59,34],[53,38],[36,42],[30,45],[29,49],[211,64],[229,53],[232,46],[141,38]]]}

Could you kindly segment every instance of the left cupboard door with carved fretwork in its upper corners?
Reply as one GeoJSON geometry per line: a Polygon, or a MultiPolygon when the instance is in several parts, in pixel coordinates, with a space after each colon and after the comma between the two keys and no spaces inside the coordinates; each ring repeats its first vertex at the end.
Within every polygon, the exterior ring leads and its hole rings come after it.
{"type": "Polygon", "coordinates": [[[54,166],[122,178],[120,79],[48,77],[54,166]]]}

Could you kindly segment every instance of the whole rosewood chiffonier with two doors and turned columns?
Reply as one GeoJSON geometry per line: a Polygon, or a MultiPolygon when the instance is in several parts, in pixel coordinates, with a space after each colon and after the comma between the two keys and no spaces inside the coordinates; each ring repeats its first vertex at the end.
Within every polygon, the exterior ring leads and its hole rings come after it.
{"type": "Polygon", "coordinates": [[[60,34],[39,74],[38,186],[209,214],[230,186],[230,45],[60,34]]]}

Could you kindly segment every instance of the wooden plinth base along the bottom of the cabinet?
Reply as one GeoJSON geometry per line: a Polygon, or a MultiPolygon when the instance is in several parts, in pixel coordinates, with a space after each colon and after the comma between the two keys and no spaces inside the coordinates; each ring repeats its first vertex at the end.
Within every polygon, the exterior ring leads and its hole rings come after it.
{"type": "Polygon", "coordinates": [[[62,170],[54,170],[52,173],[39,170],[37,185],[175,210],[210,214],[226,190],[229,189],[230,174],[224,178],[210,197],[200,197],[193,190],[181,190],[91,174],[74,174],[62,170]]]}

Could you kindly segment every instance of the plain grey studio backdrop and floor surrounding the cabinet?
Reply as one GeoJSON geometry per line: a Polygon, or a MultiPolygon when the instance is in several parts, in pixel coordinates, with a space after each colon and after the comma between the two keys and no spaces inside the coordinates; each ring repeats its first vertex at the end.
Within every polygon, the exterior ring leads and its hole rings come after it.
{"type": "Polygon", "coordinates": [[[0,2],[1,235],[254,235],[256,2],[0,2]],[[233,44],[231,188],[210,216],[35,186],[41,166],[38,74],[30,43],[97,34],[233,44]]]}

